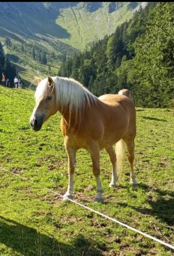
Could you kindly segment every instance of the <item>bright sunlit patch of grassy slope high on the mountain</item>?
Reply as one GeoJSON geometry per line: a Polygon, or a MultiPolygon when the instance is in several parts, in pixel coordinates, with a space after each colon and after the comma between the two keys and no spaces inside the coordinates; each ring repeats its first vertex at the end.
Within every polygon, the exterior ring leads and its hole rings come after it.
{"type": "Polygon", "coordinates": [[[79,6],[61,9],[57,24],[71,34],[70,39],[61,40],[82,50],[93,40],[114,33],[117,26],[132,17],[134,10],[127,8],[129,3],[123,2],[123,7],[112,13],[108,12],[109,2],[103,2],[103,7],[92,13],[79,6]]]}

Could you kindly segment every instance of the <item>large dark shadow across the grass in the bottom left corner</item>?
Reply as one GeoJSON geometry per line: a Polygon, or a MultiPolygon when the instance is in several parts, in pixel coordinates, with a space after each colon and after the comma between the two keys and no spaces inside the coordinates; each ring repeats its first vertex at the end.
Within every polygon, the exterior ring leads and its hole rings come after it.
{"type": "MultiPolygon", "coordinates": [[[[101,244],[94,243],[81,234],[72,237],[72,245],[59,243],[54,237],[41,234],[35,228],[0,216],[0,243],[22,255],[103,255],[104,248],[101,244]]],[[[2,249],[0,253],[3,253],[2,249]]]]}

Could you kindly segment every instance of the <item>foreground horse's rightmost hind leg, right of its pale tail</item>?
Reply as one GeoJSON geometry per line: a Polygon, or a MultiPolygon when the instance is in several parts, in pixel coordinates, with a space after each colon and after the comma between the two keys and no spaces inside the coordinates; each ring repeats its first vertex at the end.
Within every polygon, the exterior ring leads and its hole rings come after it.
{"type": "Polygon", "coordinates": [[[136,185],[136,174],[134,173],[134,140],[126,141],[126,145],[128,148],[128,160],[130,163],[130,184],[136,185]]]}

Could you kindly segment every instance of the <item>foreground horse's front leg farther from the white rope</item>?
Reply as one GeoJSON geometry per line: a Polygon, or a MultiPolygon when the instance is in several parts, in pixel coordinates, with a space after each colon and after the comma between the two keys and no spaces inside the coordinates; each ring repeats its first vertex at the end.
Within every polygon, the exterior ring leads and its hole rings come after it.
{"type": "Polygon", "coordinates": [[[92,158],[92,171],[95,176],[96,182],[97,182],[97,194],[95,196],[95,202],[103,202],[102,193],[103,188],[101,186],[100,181],[100,164],[99,164],[99,145],[98,142],[93,142],[92,145],[90,145],[90,154],[92,158]]]}

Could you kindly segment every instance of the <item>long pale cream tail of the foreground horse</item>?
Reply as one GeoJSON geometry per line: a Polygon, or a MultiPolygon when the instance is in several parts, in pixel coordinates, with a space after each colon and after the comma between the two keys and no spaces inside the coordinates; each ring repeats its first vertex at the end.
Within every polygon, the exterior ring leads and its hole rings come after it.
{"type": "Polygon", "coordinates": [[[121,173],[123,170],[123,162],[125,160],[125,148],[126,143],[123,139],[120,139],[115,146],[116,158],[117,158],[117,172],[118,177],[121,177],[121,173]]]}

